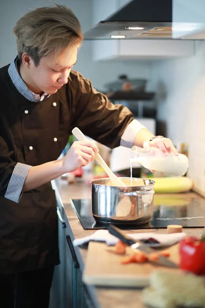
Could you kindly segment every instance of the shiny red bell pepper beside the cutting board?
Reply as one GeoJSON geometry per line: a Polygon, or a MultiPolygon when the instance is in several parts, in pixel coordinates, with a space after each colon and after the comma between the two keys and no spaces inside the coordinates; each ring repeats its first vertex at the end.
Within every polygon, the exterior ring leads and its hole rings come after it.
{"type": "Polygon", "coordinates": [[[179,243],[179,267],[196,275],[205,275],[205,237],[183,238],[179,243]]]}

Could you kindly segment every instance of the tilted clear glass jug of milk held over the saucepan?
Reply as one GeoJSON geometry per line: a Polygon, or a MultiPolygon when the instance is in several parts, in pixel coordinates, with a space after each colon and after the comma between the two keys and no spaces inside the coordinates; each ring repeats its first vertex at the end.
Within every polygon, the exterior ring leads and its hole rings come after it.
{"type": "Polygon", "coordinates": [[[175,176],[183,176],[189,168],[189,160],[186,155],[163,155],[159,148],[151,147],[150,151],[133,146],[130,152],[130,164],[140,163],[147,169],[168,173],[175,176]]]}

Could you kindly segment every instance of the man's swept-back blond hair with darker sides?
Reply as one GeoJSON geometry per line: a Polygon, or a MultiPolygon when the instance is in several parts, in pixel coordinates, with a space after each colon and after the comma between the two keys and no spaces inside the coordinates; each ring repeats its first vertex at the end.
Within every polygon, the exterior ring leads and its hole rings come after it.
{"type": "Polygon", "coordinates": [[[23,52],[27,52],[35,66],[41,57],[58,56],[83,41],[80,23],[73,11],[57,4],[28,12],[17,21],[13,33],[20,63],[23,52]]]}

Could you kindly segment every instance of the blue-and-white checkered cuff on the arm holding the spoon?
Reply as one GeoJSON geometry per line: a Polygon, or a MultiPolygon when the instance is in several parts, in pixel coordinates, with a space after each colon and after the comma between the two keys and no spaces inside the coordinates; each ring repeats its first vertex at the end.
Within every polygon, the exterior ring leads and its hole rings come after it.
{"type": "Polygon", "coordinates": [[[22,197],[22,189],[24,186],[24,182],[28,175],[29,169],[32,166],[17,163],[13,169],[11,179],[9,181],[9,185],[7,187],[7,191],[5,194],[5,198],[14,201],[16,203],[19,202],[20,197],[22,197]]]}

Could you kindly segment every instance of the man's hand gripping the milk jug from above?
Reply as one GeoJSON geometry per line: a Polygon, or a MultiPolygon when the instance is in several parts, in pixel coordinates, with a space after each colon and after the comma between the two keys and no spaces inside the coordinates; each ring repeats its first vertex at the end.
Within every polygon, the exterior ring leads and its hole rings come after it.
{"type": "Polygon", "coordinates": [[[152,141],[145,141],[143,147],[147,152],[151,147],[156,147],[159,148],[165,156],[171,152],[173,152],[176,156],[179,155],[177,149],[174,147],[172,141],[169,138],[156,138],[152,141]]]}

